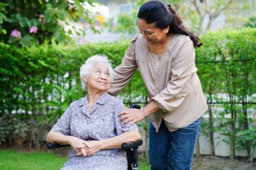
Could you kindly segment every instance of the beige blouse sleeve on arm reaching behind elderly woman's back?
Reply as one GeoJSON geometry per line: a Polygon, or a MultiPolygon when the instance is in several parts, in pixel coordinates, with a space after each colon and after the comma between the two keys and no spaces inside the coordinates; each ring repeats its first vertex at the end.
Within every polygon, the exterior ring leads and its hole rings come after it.
{"type": "Polygon", "coordinates": [[[135,42],[139,34],[135,34],[131,40],[131,44],[125,56],[121,62],[121,65],[115,68],[115,77],[113,82],[111,82],[111,87],[108,89],[110,95],[116,96],[123,87],[129,82],[131,77],[134,75],[137,70],[137,62],[135,60],[135,42]]]}

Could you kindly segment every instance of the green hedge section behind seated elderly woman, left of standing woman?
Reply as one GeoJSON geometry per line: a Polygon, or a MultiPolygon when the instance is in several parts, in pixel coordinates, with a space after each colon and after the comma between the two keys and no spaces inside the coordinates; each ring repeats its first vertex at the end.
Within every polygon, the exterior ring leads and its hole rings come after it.
{"type": "MultiPolygon", "coordinates": [[[[75,47],[17,48],[0,43],[0,144],[7,138],[11,142],[14,136],[39,145],[40,131],[49,130],[71,101],[86,94],[79,80],[84,61],[94,54],[106,54],[117,67],[128,46],[129,40],[75,47]]],[[[131,95],[146,96],[139,76],[136,73],[123,90],[126,103],[131,102],[131,95]],[[137,89],[136,94],[131,89],[137,89]]]]}

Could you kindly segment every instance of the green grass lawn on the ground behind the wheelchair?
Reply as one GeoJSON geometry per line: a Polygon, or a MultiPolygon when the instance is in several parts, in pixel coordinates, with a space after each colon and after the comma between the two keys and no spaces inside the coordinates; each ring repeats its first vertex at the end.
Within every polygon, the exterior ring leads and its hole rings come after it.
{"type": "MultiPolygon", "coordinates": [[[[22,153],[15,150],[0,150],[0,169],[5,170],[57,170],[63,167],[67,158],[53,153],[22,153]]],[[[139,162],[140,170],[150,169],[146,161],[139,162]]]]}

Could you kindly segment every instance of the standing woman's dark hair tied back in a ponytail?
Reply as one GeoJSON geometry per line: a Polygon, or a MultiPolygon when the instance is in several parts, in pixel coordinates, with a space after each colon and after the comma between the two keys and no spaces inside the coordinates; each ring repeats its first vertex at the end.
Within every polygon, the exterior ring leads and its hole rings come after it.
{"type": "Polygon", "coordinates": [[[139,8],[138,18],[145,20],[147,24],[155,24],[156,28],[163,30],[170,26],[168,34],[183,34],[189,36],[195,48],[201,46],[199,37],[195,36],[185,26],[181,17],[170,5],[161,1],[148,1],[139,8]]]}

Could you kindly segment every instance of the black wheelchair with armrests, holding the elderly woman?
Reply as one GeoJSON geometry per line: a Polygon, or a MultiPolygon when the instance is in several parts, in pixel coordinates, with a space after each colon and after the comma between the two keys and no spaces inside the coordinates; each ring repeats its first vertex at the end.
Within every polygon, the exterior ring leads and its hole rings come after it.
{"type": "MultiPolygon", "coordinates": [[[[140,109],[139,105],[131,104],[131,108],[140,109]]],[[[136,142],[124,142],[121,145],[121,148],[126,151],[127,155],[127,170],[138,170],[139,169],[139,161],[137,156],[137,149],[141,144],[143,143],[142,140],[137,140],[136,142]]],[[[49,142],[47,143],[47,148],[53,149],[53,148],[60,148],[60,147],[67,147],[70,146],[69,144],[58,144],[57,142],[49,142]]]]}

